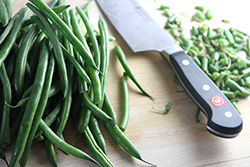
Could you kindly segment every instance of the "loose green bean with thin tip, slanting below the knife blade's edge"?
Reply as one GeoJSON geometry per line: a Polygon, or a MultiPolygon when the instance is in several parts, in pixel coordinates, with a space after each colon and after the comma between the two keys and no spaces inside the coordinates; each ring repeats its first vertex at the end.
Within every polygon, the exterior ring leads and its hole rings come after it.
{"type": "Polygon", "coordinates": [[[148,97],[150,97],[152,100],[154,99],[152,96],[150,96],[139,84],[139,82],[137,81],[137,79],[135,78],[134,72],[132,71],[131,67],[128,65],[128,63],[126,62],[126,58],[125,58],[125,54],[122,50],[122,48],[118,45],[115,46],[115,52],[116,55],[118,57],[118,59],[120,60],[121,65],[123,66],[127,76],[136,84],[136,86],[142,91],[142,93],[148,97]]]}

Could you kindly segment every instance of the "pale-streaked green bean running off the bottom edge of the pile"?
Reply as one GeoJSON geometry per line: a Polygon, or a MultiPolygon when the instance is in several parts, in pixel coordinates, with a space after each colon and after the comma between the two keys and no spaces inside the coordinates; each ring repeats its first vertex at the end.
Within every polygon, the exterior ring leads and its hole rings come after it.
{"type": "Polygon", "coordinates": [[[87,127],[86,131],[83,133],[84,141],[87,144],[88,148],[90,149],[94,158],[102,165],[102,166],[110,166],[114,167],[112,162],[108,159],[105,155],[103,150],[98,146],[96,143],[93,134],[91,133],[89,127],[87,127]]]}

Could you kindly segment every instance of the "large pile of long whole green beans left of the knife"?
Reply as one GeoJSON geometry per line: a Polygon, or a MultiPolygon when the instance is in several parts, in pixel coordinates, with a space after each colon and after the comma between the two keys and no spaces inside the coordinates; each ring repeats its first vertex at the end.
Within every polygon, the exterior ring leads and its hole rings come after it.
{"type": "MultiPolygon", "coordinates": [[[[142,159],[117,125],[106,86],[109,42],[113,38],[101,17],[98,30],[93,29],[89,17],[92,1],[74,10],[64,0],[53,0],[50,4],[29,0],[14,16],[10,13],[10,2],[0,0],[3,92],[0,96],[0,158],[6,165],[26,166],[32,143],[41,141],[53,166],[57,166],[56,147],[98,166],[114,166],[107,157],[102,124],[128,154],[153,165],[142,159]],[[86,34],[82,32],[83,26],[86,34]],[[76,136],[83,136],[92,156],[64,140],[63,132],[69,119],[77,124],[76,136]],[[8,160],[4,151],[13,143],[14,151],[8,160]]],[[[131,72],[130,67],[126,70],[131,72]]],[[[132,74],[129,77],[136,80],[132,74]]],[[[124,105],[128,109],[125,80],[123,86],[124,105]]],[[[126,111],[123,130],[128,123],[127,114],[126,111]]]]}

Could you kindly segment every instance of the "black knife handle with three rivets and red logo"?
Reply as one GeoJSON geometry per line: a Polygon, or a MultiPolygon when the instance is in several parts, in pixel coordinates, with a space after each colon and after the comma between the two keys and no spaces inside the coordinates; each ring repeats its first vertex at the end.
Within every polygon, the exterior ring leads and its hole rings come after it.
{"type": "Polygon", "coordinates": [[[233,138],[242,130],[240,114],[207,74],[183,51],[168,60],[182,86],[207,117],[207,130],[220,137],[233,138]]]}

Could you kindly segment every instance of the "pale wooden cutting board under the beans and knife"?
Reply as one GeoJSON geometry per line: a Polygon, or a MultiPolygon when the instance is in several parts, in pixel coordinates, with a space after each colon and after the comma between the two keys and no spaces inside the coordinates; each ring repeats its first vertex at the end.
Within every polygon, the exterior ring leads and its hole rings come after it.
{"type": "MultiPolygon", "coordinates": [[[[13,5],[15,13],[26,0],[16,0],[13,5]]],[[[46,1],[48,2],[48,1],[46,1]]],[[[71,8],[76,5],[83,6],[88,0],[68,0],[71,8]]],[[[225,26],[221,24],[222,19],[231,20],[231,25],[250,34],[250,24],[248,16],[247,1],[226,1],[226,0],[140,0],[142,5],[149,11],[152,17],[164,27],[167,18],[158,10],[160,4],[171,7],[173,13],[178,14],[184,24],[190,26],[187,16],[192,16],[195,12],[194,6],[202,5],[206,9],[211,9],[214,18],[209,25],[225,26]]],[[[93,27],[97,29],[99,16],[103,16],[95,1],[90,12],[93,27]]],[[[105,18],[106,19],[106,18],[105,18]]],[[[244,128],[239,136],[233,139],[223,139],[211,135],[206,127],[194,122],[196,105],[183,92],[182,86],[172,81],[174,73],[169,64],[156,52],[146,52],[134,54],[118,35],[116,30],[110,25],[110,35],[116,41],[110,43],[110,66],[108,71],[108,94],[113,107],[117,113],[118,123],[121,119],[122,94],[121,76],[123,69],[115,57],[113,47],[120,45],[124,50],[129,65],[145,88],[145,90],[156,98],[155,101],[143,96],[137,87],[128,81],[130,97],[130,120],[127,130],[124,132],[130,141],[138,148],[143,159],[157,164],[159,167],[166,166],[249,166],[250,164],[250,103],[249,98],[241,99],[238,103],[242,110],[244,128]],[[166,115],[153,112],[152,107],[164,109],[168,101],[172,101],[173,106],[166,115]]],[[[201,120],[205,122],[204,116],[201,120]]],[[[102,124],[101,124],[102,125],[102,124]]],[[[107,143],[107,156],[117,167],[127,166],[147,166],[141,161],[126,154],[109,136],[105,128],[101,126],[103,135],[107,143]]],[[[75,142],[75,146],[88,152],[81,137],[75,138],[76,130],[69,122],[65,130],[65,139],[68,143],[75,142]]],[[[7,152],[8,160],[11,157],[13,147],[7,152]]],[[[0,161],[0,166],[5,166],[0,161]]],[[[49,167],[44,145],[36,142],[32,149],[27,163],[28,167],[49,167]]],[[[60,167],[85,167],[95,166],[92,163],[75,158],[71,155],[64,155],[58,150],[58,166],[60,167]]]]}

